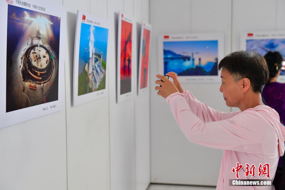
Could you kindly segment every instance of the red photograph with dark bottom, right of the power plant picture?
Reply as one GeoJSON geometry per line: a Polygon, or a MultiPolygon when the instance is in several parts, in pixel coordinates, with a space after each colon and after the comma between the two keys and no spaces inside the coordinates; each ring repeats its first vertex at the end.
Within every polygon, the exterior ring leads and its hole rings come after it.
{"type": "Polygon", "coordinates": [[[120,94],[131,92],[131,60],[132,60],[131,46],[132,46],[132,24],[122,20],[120,94]]]}

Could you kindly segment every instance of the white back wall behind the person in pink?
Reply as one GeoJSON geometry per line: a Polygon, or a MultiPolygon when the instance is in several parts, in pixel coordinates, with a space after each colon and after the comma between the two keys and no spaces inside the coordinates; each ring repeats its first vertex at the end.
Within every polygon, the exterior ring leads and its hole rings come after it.
{"type": "MultiPolygon", "coordinates": [[[[216,186],[222,150],[189,143],[177,126],[169,106],[154,90],[157,35],[161,33],[223,32],[224,53],[240,49],[240,33],[285,30],[283,0],[151,0],[153,26],[150,59],[151,182],[216,186]]],[[[199,101],[220,111],[225,105],[220,83],[182,83],[199,101]]]]}

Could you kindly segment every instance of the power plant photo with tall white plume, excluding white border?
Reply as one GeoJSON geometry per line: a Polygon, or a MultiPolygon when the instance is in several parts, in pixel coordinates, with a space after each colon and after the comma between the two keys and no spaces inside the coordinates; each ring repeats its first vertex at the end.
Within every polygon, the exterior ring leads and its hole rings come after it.
{"type": "Polygon", "coordinates": [[[105,89],[108,29],[81,23],[78,96],[105,89]]]}

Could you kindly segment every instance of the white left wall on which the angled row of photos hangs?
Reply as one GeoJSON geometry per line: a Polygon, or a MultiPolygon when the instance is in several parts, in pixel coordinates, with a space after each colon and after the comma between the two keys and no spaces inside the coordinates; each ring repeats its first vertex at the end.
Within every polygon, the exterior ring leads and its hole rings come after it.
{"type": "MultiPolygon", "coordinates": [[[[150,183],[150,95],[116,104],[116,13],[149,22],[148,0],[52,0],[67,9],[66,108],[0,129],[0,189],[145,190],[150,183]],[[77,10],[108,18],[108,97],[72,106],[77,10]]],[[[137,78],[134,27],[133,77],[137,78]]],[[[136,85],[133,83],[133,87],[136,85]]]]}

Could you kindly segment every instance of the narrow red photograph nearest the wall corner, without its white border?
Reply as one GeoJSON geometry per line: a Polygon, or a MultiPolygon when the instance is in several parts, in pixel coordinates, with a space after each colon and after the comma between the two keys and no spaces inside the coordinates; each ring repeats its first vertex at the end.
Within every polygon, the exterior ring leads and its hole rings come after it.
{"type": "Polygon", "coordinates": [[[143,29],[143,49],[142,49],[142,64],[141,64],[141,78],[140,89],[147,87],[148,62],[150,53],[150,30],[143,29]]]}

